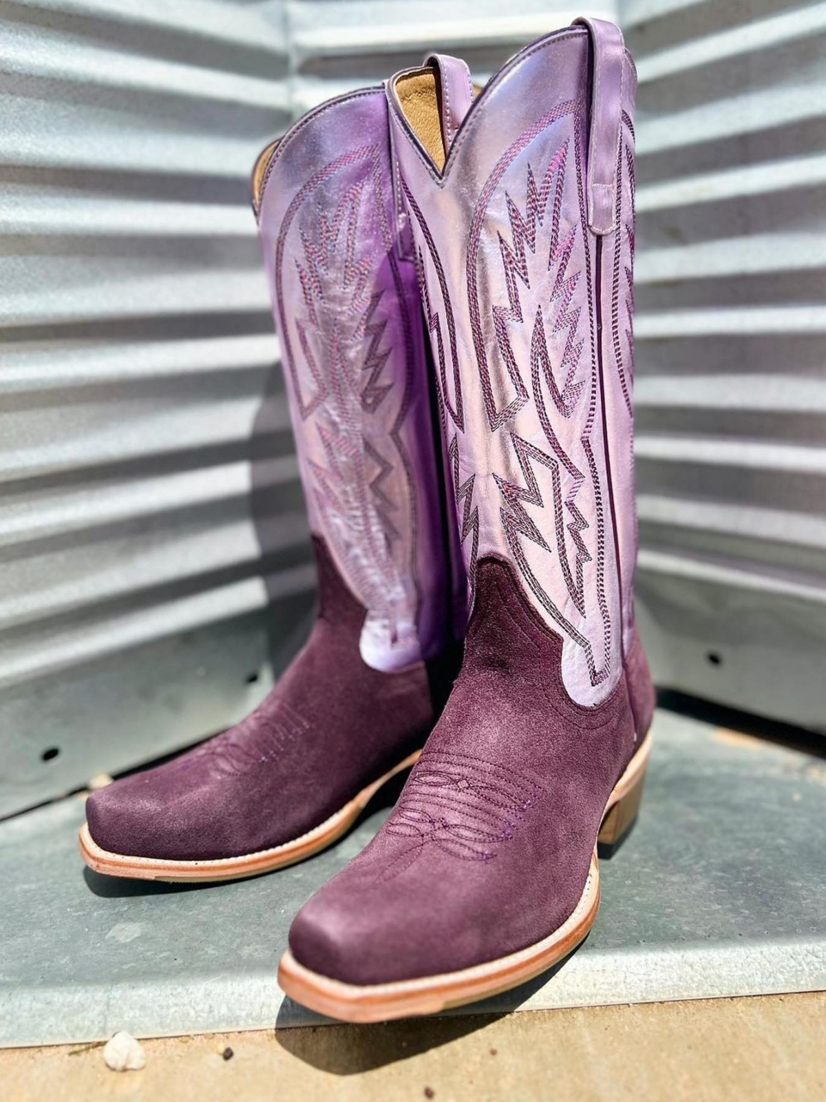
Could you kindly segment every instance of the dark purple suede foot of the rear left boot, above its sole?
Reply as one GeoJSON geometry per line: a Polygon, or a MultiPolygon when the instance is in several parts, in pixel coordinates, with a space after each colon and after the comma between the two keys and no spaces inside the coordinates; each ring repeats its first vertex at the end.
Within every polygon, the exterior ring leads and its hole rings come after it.
{"type": "Polygon", "coordinates": [[[89,831],[110,852],[164,860],[270,849],[319,825],[421,747],[432,717],[422,663],[374,670],[319,619],[246,720],[93,793],[89,831]]]}

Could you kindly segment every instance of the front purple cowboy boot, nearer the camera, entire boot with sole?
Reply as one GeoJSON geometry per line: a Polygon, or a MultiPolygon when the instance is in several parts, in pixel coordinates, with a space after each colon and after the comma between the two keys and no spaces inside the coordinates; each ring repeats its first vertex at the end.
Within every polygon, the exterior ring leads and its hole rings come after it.
{"type": "Polygon", "coordinates": [[[395,810],[290,931],[284,991],[352,1022],[481,998],[570,952],[597,840],[640,801],[634,67],[617,28],[577,23],[490,80],[446,158],[417,114],[433,69],[388,86],[472,613],[395,810]]]}

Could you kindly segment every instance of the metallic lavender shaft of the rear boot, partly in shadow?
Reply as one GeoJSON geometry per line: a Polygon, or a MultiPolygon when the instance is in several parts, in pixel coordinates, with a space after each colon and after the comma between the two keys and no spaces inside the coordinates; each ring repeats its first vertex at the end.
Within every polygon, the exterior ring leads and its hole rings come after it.
{"type": "Polygon", "coordinates": [[[259,229],[311,528],[367,609],[362,658],[432,658],[452,641],[452,574],[381,89],[322,106],[279,145],[259,229]]]}

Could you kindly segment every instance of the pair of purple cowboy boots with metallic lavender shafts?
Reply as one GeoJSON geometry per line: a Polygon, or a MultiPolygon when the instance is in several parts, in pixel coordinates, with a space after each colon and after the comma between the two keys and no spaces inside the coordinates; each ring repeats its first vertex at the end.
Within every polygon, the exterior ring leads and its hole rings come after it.
{"type": "Polygon", "coordinates": [[[290,931],[282,987],[334,1017],[547,969],[639,806],[633,98],[620,32],[578,20],[476,98],[435,55],[325,104],[256,168],[317,618],[247,720],[95,792],[81,851],[119,876],[278,868],[415,761],[290,931]]]}

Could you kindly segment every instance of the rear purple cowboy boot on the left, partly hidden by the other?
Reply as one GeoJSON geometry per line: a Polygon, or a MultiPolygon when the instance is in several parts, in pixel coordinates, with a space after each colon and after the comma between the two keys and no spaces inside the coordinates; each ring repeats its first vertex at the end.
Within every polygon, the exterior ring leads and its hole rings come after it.
{"type": "MultiPolygon", "coordinates": [[[[444,66],[466,74],[464,63],[444,66]]],[[[333,100],[253,173],[318,565],[304,649],[238,726],[95,792],[84,860],[216,880],[329,845],[419,756],[467,618],[415,264],[399,248],[382,88],[333,100]]]]}

